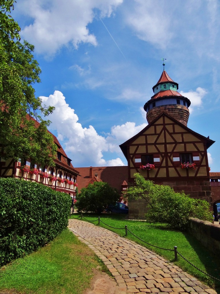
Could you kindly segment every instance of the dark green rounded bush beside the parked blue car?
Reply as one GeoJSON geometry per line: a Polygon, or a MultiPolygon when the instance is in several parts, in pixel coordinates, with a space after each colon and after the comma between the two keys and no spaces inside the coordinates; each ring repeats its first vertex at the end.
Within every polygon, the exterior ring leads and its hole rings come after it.
{"type": "Polygon", "coordinates": [[[79,211],[102,213],[104,209],[119,200],[119,192],[108,183],[95,182],[87,188],[82,188],[76,197],[79,211]]]}

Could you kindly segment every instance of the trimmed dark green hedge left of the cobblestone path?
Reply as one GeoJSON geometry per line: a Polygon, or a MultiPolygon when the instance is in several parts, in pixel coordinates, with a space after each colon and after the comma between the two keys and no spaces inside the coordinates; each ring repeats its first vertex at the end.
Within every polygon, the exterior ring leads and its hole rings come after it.
{"type": "Polygon", "coordinates": [[[42,184],[0,178],[0,265],[33,252],[67,227],[71,198],[42,184]]]}

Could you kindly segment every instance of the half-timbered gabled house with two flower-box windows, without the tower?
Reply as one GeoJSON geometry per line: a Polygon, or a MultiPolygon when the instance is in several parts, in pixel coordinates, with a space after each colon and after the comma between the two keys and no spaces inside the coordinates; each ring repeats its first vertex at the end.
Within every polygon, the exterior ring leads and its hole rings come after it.
{"type": "MultiPolygon", "coordinates": [[[[161,114],[140,133],[121,144],[121,150],[128,160],[128,181],[134,182],[134,173],[141,173],[155,183],[169,184],[175,190],[184,190],[186,182],[200,186],[209,184],[207,148],[214,141],[195,133],[167,114],[161,114]],[[184,168],[181,163],[195,163],[195,169],[184,168]],[[154,169],[142,170],[140,166],[153,164],[154,169]],[[202,181],[202,182],[201,182],[202,181]],[[182,184],[181,184],[182,183],[182,184]]],[[[210,186],[210,185],[209,185],[210,186]]],[[[190,186],[191,187],[191,186],[190,186]]],[[[210,197],[210,189],[187,188],[193,197],[210,197]]]]}

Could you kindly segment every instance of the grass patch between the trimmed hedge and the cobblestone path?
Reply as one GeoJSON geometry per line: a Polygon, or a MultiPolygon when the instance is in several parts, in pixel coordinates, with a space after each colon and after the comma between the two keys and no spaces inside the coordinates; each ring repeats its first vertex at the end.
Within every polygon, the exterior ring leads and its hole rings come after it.
{"type": "Polygon", "coordinates": [[[68,229],[47,246],[0,270],[0,289],[21,293],[81,294],[90,286],[97,256],[68,229]]]}

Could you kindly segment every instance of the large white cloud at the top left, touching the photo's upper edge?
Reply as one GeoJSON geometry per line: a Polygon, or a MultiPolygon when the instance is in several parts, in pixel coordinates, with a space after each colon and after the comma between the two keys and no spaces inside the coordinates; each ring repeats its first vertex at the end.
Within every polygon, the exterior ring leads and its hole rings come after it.
{"type": "MultiPolygon", "coordinates": [[[[20,1],[19,1],[20,2],[20,1]]],[[[110,17],[123,0],[23,0],[18,8],[22,14],[32,18],[24,27],[21,36],[35,45],[38,53],[53,56],[62,46],[72,44],[76,49],[80,43],[97,45],[94,34],[87,25],[92,23],[99,10],[101,17],[110,17]]]]}

